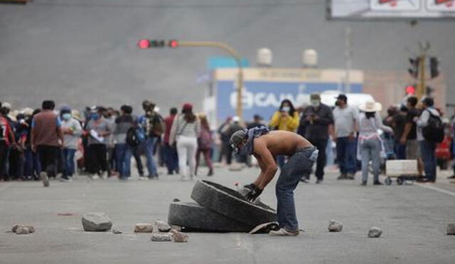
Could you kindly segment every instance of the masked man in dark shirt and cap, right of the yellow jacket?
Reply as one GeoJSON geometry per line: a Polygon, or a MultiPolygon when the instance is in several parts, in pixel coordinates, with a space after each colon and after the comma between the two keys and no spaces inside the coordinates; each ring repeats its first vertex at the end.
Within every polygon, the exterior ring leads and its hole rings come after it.
{"type": "MultiPolygon", "coordinates": [[[[321,103],[321,96],[314,93],[310,96],[311,105],[305,108],[300,119],[300,126],[305,127],[302,137],[314,144],[319,149],[318,160],[316,161],[316,184],[320,184],[324,177],[326,166],[326,147],[328,142],[328,126],[333,124],[332,110],[321,103]]],[[[309,174],[304,175],[302,181],[309,181],[309,174]]]]}

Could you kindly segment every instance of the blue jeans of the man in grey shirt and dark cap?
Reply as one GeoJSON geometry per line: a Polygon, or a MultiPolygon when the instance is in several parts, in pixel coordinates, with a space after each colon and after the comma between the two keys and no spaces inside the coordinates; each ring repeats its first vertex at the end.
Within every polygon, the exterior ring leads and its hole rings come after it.
{"type": "Polygon", "coordinates": [[[349,137],[337,137],[336,139],[336,159],[341,174],[355,174],[355,139],[350,141],[349,137]]]}

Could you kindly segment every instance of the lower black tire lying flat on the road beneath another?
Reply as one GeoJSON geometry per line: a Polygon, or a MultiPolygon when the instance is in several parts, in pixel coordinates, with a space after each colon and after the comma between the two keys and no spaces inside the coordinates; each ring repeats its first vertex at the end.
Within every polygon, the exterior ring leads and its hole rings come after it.
{"type": "Polygon", "coordinates": [[[185,231],[249,232],[255,228],[199,204],[180,201],[173,202],[169,206],[168,223],[173,226],[182,226],[185,231]]]}

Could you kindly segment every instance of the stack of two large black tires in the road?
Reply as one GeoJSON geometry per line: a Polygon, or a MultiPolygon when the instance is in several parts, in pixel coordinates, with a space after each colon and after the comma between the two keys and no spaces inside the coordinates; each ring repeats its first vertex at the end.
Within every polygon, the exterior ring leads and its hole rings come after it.
{"type": "Polygon", "coordinates": [[[211,181],[197,181],[191,199],[196,203],[171,203],[169,224],[187,231],[249,232],[262,223],[277,221],[273,208],[252,204],[237,191],[211,181]]]}

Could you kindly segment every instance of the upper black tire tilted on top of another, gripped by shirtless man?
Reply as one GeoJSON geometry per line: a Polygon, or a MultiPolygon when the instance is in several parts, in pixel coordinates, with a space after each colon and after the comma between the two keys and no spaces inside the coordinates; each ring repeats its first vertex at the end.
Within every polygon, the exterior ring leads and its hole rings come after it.
{"type": "Polygon", "coordinates": [[[211,181],[197,181],[191,198],[198,204],[228,218],[258,226],[277,221],[277,213],[266,204],[252,204],[237,191],[211,181]]]}

